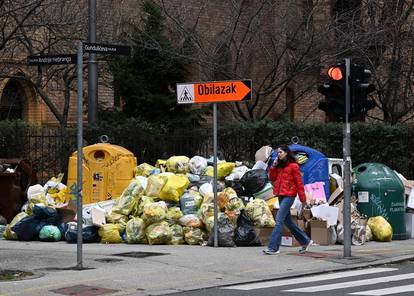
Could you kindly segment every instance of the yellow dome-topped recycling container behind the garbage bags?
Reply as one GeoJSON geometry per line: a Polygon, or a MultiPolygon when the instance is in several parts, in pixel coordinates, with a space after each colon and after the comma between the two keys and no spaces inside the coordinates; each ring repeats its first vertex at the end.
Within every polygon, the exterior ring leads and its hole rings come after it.
{"type": "MultiPolygon", "coordinates": [[[[75,198],[77,183],[77,152],[69,158],[66,201],[75,198]]],[[[83,148],[83,204],[116,199],[134,176],[137,159],[117,145],[99,143],[83,148]]]]}

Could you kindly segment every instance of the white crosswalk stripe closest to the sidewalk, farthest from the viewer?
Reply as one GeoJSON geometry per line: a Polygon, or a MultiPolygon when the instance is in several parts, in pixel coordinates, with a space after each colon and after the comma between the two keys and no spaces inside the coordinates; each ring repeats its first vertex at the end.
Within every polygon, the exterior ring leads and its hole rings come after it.
{"type": "Polygon", "coordinates": [[[304,283],[312,283],[312,282],[318,282],[318,281],[334,280],[337,278],[373,274],[373,273],[379,273],[379,272],[390,272],[390,271],[395,271],[395,270],[398,270],[398,269],[397,268],[369,268],[369,269],[363,269],[363,270],[351,270],[351,271],[314,275],[314,276],[309,276],[309,277],[304,277],[304,278],[293,278],[293,279],[274,280],[274,281],[252,283],[252,284],[241,284],[241,285],[223,287],[222,289],[228,289],[228,290],[264,289],[264,288],[270,288],[270,287],[288,286],[292,284],[304,284],[304,283]]]}

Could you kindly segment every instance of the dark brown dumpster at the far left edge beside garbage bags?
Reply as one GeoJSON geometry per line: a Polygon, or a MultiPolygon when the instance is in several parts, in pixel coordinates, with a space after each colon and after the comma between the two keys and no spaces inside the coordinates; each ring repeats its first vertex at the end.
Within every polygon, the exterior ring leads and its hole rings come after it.
{"type": "Polygon", "coordinates": [[[27,199],[27,188],[36,183],[28,160],[0,159],[0,216],[10,223],[27,199]]]}

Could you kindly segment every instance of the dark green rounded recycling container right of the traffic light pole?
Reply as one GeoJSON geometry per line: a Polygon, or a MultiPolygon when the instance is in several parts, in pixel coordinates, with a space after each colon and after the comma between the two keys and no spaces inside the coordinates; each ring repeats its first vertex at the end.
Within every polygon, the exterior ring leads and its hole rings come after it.
{"type": "Polygon", "coordinates": [[[363,163],[354,168],[352,192],[358,211],[368,217],[383,216],[392,226],[392,239],[407,239],[404,185],[397,174],[381,163],[363,163]]]}

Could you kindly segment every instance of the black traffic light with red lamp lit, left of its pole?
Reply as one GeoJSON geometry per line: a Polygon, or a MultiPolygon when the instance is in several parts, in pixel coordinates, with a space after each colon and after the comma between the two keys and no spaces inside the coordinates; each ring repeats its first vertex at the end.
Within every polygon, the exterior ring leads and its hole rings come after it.
{"type": "Polygon", "coordinates": [[[328,81],[318,87],[318,92],[325,96],[318,108],[329,117],[340,120],[345,118],[346,75],[345,63],[328,68],[328,81]]]}

